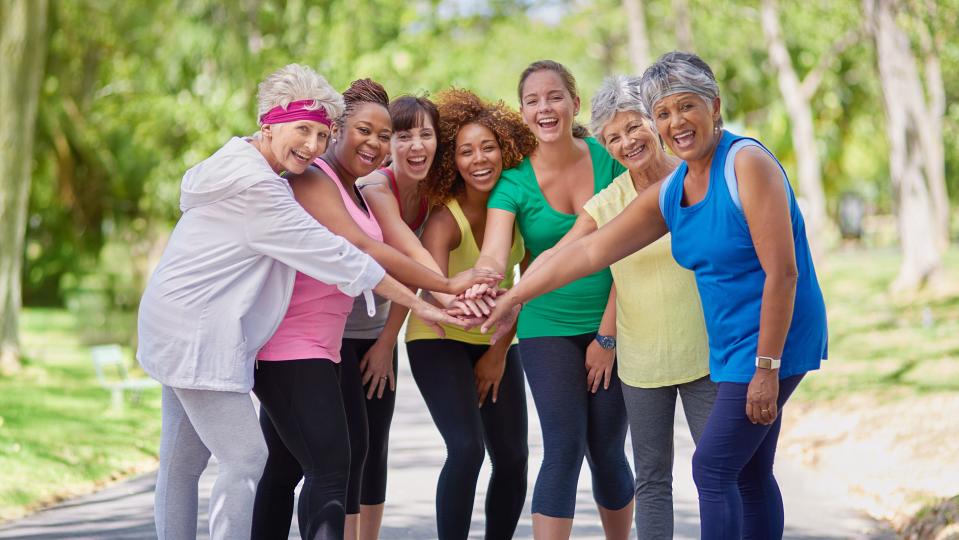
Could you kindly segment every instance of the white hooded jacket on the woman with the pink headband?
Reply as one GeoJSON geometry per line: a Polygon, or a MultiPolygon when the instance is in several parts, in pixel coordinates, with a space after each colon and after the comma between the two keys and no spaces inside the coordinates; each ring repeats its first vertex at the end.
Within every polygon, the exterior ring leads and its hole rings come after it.
{"type": "Polygon", "coordinates": [[[240,138],[186,172],[180,209],[137,320],[137,359],[167,386],[249,392],[297,270],[354,297],[385,275],[313,219],[240,138]]]}

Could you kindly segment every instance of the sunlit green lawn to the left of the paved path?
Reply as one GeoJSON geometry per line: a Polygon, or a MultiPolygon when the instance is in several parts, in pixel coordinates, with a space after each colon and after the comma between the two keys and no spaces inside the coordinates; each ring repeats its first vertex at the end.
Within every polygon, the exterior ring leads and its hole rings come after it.
{"type": "Polygon", "coordinates": [[[0,378],[0,519],[156,462],[159,390],[112,410],[76,335],[66,311],[24,310],[24,369],[0,378]]]}

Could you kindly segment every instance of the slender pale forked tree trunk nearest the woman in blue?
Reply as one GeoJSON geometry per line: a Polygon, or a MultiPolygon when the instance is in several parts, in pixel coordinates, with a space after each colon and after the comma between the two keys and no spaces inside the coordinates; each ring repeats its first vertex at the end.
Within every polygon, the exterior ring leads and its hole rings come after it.
{"type": "Polygon", "coordinates": [[[826,215],[826,195],[822,187],[819,146],[813,129],[812,107],[809,105],[811,93],[815,88],[804,88],[796,75],[779,25],[779,6],[776,0],[763,0],[762,24],[769,59],[776,68],[779,91],[789,114],[793,149],[796,152],[799,195],[806,203],[803,215],[806,219],[809,244],[813,255],[818,258],[825,236],[831,231],[829,217],[826,215]]]}

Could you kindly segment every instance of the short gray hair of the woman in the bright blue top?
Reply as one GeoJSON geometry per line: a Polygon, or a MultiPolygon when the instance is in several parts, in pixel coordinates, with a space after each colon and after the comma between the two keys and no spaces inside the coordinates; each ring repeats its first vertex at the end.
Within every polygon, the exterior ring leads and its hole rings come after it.
{"type": "MultiPolygon", "coordinates": [[[[641,83],[643,104],[650,112],[659,100],[682,92],[692,92],[707,104],[719,97],[719,85],[709,64],[693,53],[673,51],[666,53],[643,73],[641,83]]],[[[722,116],[719,125],[723,125],[722,116]]]]}

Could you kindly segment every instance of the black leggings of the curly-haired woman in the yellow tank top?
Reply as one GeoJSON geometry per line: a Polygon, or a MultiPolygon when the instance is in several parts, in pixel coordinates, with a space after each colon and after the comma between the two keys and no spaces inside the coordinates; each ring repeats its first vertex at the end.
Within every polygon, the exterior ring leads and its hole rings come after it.
{"type": "Polygon", "coordinates": [[[441,540],[469,536],[486,449],[493,466],[486,492],[486,538],[512,538],[526,500],[529,449],[522,362],[516,347],[510,347],[496,403],[490,393],[480,408],[473,366],[487,349],[446,339],[406,345],[413,378],[446,442],[446,463],[436,487],[441,540]]]}

